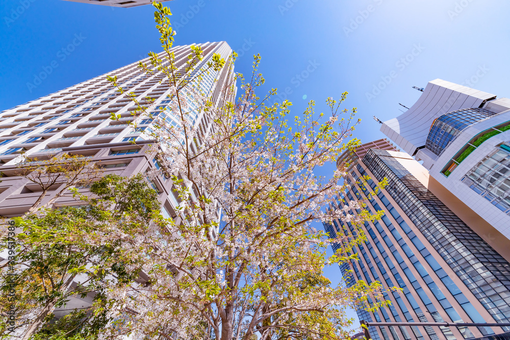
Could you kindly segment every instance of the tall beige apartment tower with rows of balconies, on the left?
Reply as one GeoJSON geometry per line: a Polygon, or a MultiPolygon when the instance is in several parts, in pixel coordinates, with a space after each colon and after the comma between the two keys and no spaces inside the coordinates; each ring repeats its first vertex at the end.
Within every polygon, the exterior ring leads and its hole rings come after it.
{"type": "MultiPolygon", "coordinates": [[[[199,46],[204,51],[203,60],[195,66],[191,74],[206,68],[215,53],[220,54],[226,62],[221,70],[210,70],[203,75],[200,82],[191,82],[189,86],[198,86],[216,106],[221,105],[225,87],[234,79],[230,60],[232,49],[226,42],[208,42],[199,46]]],[[[190,46],[176,46],[172,51],[175,54],[175,65],[181,70],[187,67],[190,46]]],[[[160,58],[163,58],[163,55],[160,58]]],[[[120,86],[127,92],[133,92],[138,100],[147,96],[155,98],[148,116],[135,117],[132,114],[136,106],[107,81],[107,74],[0,113],[0,216],[20,216],[27,212],[40,196],[37,185],[18,175],[19,167],[23,165],[17,163],[21,153],[38,160],[50,159],[64,153],[81,155],[103,168],[104,175],[115,173],[129,177],[160,167],[154,145],[149,147],[154,141],[144,135],[143,131],[150,129],[157,123],[157,119],[165,119],[171,124],[177,124],[177,120],[172,118],[173,115],[168,110],[170,99],[167,94],[170,89],[167,84],[160,82],[162,73],[156,71],[147,75],[137,65],[138,62],[121,67],[108,75],[116,75],[120,86]],[[111,120],[111,113],[120,115],[121,118],[111,120]],[[127,125],[127,122],[133,120],[137,123],[136,130],[127,125]]],[[[186,88],[183,91],[186,91],[186,88]]],[[[189,119],[192,119],[203,135],[208,134],[211,121],[203,111],[193,111],[189,119]]],[[[193,143],[201,142],[197,139],[190,144],[191,150],[196,151],[197,146],[193,143]]],[[[176,223],[181,223],[184,216],[175,210],[180,200],[172,191],[172,180],[158,176],[153,179],[147,177],[147,181],[160,193],[162,214],[166,218],[173,218],[176,223]]],[[[59,188],[59,185],[52,187],[52,191],[48,192],[42,203],[54,197],[55,193],[60,191],[59,188]]],[[[80,191],[85,193],[87,189],[80,191]]],[[[191,187],[190,193],[194,195],[191,187]]],[[[80,203],[69,197],[61,197],[53,206],[74,204],[80,203]]],[[[218,218],[220,213],[217,212],[218,218]]],[[[0,254],[0,260],[5,259],[2,255],[0,254]]],[[[81,308],[90,303],[89,300],[72,298],[64,309],[81,308]]],[[[57,316],[63,313],[65,311],[55,311],[57,316]]]]}

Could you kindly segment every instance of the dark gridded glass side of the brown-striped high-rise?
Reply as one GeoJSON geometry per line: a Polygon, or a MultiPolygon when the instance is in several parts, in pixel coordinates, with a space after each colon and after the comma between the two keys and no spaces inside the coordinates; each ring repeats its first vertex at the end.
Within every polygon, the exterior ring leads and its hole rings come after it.
{"type": "Polygon", "coordinates": [[[510,303],[510,264],[388,152],[370,150],[363,162],[378,180],[388,178],[385,190],[493,318],[510,320],[510,312],[498,307],[510,303]],[[479,247],[491,257],[475,251],[479,247]]]}

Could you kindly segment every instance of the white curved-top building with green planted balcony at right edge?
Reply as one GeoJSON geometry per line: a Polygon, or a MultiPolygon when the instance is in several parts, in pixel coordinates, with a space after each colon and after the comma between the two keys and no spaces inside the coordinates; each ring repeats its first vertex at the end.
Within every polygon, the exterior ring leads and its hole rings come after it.
{"type": "Polygon", "coordinates": [[[456,215],[495,248],[508,248],[510,99],[437,79],[381,131],[423,161],[429,189],[456,215]]]}

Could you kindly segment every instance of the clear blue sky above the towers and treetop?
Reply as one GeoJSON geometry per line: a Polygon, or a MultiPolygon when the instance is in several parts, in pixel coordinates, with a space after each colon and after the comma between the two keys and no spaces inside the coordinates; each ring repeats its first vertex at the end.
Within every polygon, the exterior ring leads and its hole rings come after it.
{"type": "MultiPolygon", "coordinates": [[[[383,121],[399,115],[399,102],[411,107],[421,94],[411,87],[436,78],[468,80],[476,89],[510,96],[510,3],[504,0],[174,0],[165,5],[179,27],[176,44],[225,40],[240,54],[236,70],[245,74],[251,56],[260,53],[267,89],[289,87],[295,112],[310,99],[320,111],[326,97],[348,91],[346,107],[357,107],[363,119],[356,130],[363,142],[384,137],[373,115],[383,121]]],[[[153,12],[151,6],[3,0],[0,111],[159,52],[153,12]],[[73,42],[73,50],[64,53],[73,42]],[[27,84],[52,62],[58,66],[39,86],[27,84]]],[[[337,268],[327,275],[340,280],[337,268]]]]}

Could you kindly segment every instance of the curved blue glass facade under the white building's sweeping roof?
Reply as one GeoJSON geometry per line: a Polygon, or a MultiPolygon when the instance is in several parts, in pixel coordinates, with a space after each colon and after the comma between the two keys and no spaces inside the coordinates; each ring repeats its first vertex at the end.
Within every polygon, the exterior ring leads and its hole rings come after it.
{"type": "Polygon", "coordinates": [[[439,155],[464,128],[494,115],[493,112],[479,108],[444,114],[432,123],[425,147],[439,155]]]}

